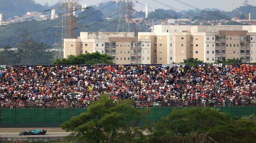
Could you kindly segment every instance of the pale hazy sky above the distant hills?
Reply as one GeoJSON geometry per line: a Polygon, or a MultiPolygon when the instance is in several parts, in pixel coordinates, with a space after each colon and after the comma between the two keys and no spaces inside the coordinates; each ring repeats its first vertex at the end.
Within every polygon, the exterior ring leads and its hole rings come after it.
{"type": "MultiPolygon", "coordinates": [[[[34,0],[37,3],[48,3],[49,5],[55,4],[59,0],[34,0]]],[[[79,3],[87,3],[88,5],[98,5],[100,2],[106,2],[111,0],[79,0],[79,3]]],[[[153,0],[138,0],[140,3],[148,3],[149,7],[155,7],[155,8],[163,8],[163,9],[170,9],[164,5],[161,5],[159,3],[154,2],[153,0]]],[[[181,3],[178,3],[174,0],[158,0],[162,3],[165,3],[167,5],[171,5],[172,7],[178,8],[180,10],[187,10],[192,9],[186,5],[183,5],[181,3]]],[[[185,3],[197,6],[199,8],[218,8],[224,11],[232,11],[232,9],[237,8],[243,4],[245,0],[181,0],[185,3]]],[[[249,4],[256,5],[256,0],[248,0],[249,4]]],[[[136,4],[135,9],[137,11],[143,10],[143,6],[141,4],[136,4]]],[[[151,11],[151,8],[149,8],[149,11],[151,11]]]]}

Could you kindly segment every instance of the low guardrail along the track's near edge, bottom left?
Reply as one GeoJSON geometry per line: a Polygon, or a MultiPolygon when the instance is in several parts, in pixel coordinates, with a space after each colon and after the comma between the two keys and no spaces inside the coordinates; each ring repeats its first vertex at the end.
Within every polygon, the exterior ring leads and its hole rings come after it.
{"type": "MultiPolygon", "coordinates": [[[[69,141],[76,140],[75,137],[69,138],[69,141]]],[[[0,143],[5,142],[15,142],[15,143],[23,143],[23,142],[60,142],[66,141],[63,137],[0,137],[0,143]]]]}

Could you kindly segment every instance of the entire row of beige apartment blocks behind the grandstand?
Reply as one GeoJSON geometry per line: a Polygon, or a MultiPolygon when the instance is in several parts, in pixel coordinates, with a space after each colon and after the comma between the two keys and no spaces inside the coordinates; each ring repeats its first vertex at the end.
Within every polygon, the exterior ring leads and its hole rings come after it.
{"type": "Polygon", "coordinates": [[[81,32],[64,40],[64,55],[100,52],[116,64],[172,64],[197,58],[213,63],[256,62],[256,26],[155,25],[152,32],[81,32]]]}

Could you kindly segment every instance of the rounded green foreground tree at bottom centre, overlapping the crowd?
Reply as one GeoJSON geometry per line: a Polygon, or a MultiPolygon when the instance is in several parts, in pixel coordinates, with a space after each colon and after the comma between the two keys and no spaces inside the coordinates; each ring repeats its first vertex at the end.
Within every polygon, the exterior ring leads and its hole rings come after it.
{"type": "Polygon", "coordinates": [[[86,113],[71,118],[61,125],[62,129],[72,132],[77,142],[123,143],[135,142],[143,137],[138,123],[147,116],[145,112],[130,107],[130,102],[113,102],[108,95],[101,95],[93,102],[86,113]]]}

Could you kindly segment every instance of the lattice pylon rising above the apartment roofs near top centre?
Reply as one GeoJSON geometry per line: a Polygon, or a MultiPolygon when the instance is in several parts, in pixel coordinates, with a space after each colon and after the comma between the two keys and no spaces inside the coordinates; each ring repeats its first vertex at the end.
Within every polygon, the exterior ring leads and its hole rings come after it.
{"type": "Polygon", "coordinates": [[[110,13],[117,13],[120,15],[117,32],[136,32],[135,26],[132,22],[132,14],[138,13],[133,9],[132,0],[120,0],[120,8],[114,11],[110,11],[110,13]]]}

